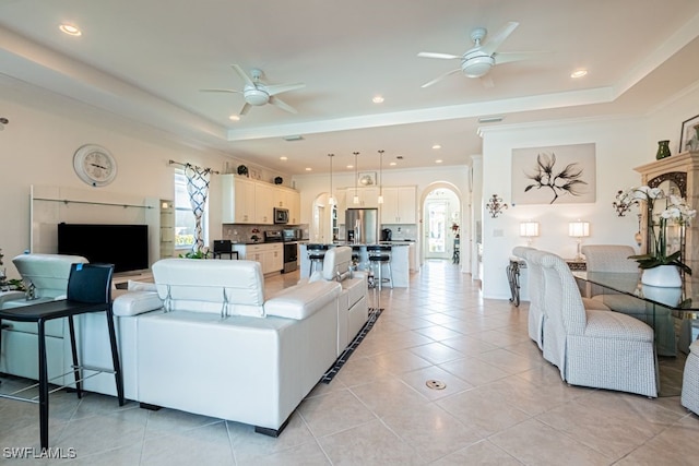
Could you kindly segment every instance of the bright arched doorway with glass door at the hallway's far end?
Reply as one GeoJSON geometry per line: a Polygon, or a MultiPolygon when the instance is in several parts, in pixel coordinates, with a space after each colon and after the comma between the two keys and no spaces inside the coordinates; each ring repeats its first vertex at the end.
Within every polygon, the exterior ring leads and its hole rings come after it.
{"type": "Polygon", "coordinates": [[[467,223],[460,190],[449,182],[434,182],[425,188],[420,201],[422,262],[445,260],[467,268],[462,248],[467,223]]]}

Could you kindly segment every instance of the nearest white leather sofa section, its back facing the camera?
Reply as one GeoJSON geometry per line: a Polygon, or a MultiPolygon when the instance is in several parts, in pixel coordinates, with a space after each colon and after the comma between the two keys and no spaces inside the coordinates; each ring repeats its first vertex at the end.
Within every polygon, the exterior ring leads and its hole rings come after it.
{"type": "Polygon", "coordinates": [[[265,299],[253,261],[166,259],[153,275],[161,309],[149,309],[154,291],[115,300],[133,399],[277,435],[336,358],[342,287],[319,280],[265,299]]]}

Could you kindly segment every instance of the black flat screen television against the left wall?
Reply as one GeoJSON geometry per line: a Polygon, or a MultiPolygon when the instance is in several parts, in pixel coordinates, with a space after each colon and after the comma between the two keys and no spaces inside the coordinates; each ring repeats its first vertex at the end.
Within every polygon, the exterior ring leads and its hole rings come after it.
{"type": "Polygon", "coordinates": [[[58,224],[58,253],[114,264],[115,273],[149,268],[147,225],[58,224]]]}

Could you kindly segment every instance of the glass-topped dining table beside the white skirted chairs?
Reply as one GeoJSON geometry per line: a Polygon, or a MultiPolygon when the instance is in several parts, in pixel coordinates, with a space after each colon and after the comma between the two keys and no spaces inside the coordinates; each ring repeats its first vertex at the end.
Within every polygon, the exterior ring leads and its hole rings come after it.
{"type": "Polygon", "coordinates": [[[689,345],[699,336],[699,278],[687,275],[682,287],[664,288],[643,285],[640,273],[573,271],[572,275],[582,296],[653,328],[661,394],[677,395],[689,345]]]}

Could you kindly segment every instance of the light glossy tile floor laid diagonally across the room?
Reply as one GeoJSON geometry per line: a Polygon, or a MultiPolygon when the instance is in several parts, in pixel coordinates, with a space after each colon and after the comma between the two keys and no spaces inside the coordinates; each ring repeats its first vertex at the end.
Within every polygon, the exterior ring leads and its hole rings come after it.
{"type": "MultiPolygon", "coordinates": [[[[283,288],[296,274],[270,278],[283,288]]],[[[378,297],[374,296],[372,299],[378,297]]],[[[699,464],[699,418],[678,396],[568,386],[526,333],[526,303],[483,299],[447,261],[428,261],[331,384],[319,384],[279,439],[250,426],[108,396],[51,395],[51,445],[71,465],[699,464]],[[441,391],[427,380],[447,384],[441,391]]],[[[4,377],[0,390],[20,381],[4,377]]],[[[192,396],[205,396],[192,395],[192,396]]],[[[242,401],[244,402],[244,401],[242,401]]],[[[36,406],[0,401],[7,447],[38,447],[36,406]]]]}

